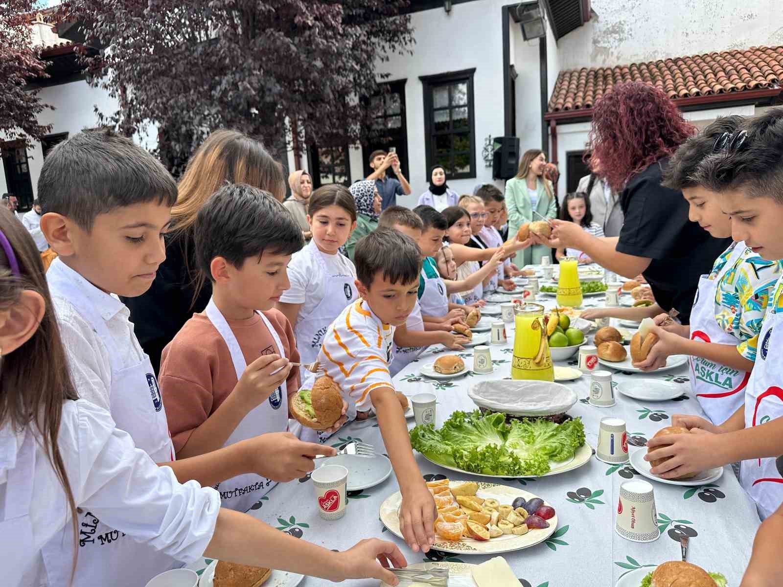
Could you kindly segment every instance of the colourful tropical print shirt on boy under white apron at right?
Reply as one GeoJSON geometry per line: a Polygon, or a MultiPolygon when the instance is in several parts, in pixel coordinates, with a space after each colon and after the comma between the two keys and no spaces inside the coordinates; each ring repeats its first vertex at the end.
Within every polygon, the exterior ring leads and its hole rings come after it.
{"type": "MultiPolygon", "coordinates": [[[[709,279],[716,279],[726,267],[734,247],[745,247],[745,243],[732,243],[723,251],[716,259],[709,279]]],[[[737,351],[749,361],[756,360],[761,323],[781,269],[781,261],[767,261],[745,247],[716,287],[715,321],[723,331],[740,341],[737,351]]]]}

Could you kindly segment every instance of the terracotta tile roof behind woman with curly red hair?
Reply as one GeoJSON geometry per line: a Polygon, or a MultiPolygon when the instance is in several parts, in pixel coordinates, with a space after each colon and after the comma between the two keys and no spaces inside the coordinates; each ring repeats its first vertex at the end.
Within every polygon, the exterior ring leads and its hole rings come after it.
{"type": "Polygon", "coordinates": [[[644,81],[669,98],[774,88],[783,84],[783,45],[561,71],[549,111],[592,108],[612,86],[624,81],[644,81]]]}

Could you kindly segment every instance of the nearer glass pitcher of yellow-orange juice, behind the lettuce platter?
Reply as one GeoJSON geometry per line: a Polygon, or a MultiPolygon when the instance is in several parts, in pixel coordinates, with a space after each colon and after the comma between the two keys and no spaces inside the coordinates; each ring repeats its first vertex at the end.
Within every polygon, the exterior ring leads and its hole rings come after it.
{"type": "Polygon", "coordinates": [[[554,381],[546,326],[541,304],[514,306],[514,358],[511,379],[554,381]]]}

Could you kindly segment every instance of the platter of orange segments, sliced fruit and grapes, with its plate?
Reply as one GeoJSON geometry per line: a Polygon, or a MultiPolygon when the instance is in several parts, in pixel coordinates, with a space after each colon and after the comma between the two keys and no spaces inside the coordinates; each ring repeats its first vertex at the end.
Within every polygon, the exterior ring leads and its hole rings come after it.
{"type": "MultiPolygon", "coordinates": [[[[435,545],[446,553],[493,554],[529,548],[557,528],[557,513],[543,499],[521,489],[475,481],[428,481],[438,507],[435,545]]],[[[402,495],[395,492],[381,504],[380,517],[395,535],[402,495]]]]}

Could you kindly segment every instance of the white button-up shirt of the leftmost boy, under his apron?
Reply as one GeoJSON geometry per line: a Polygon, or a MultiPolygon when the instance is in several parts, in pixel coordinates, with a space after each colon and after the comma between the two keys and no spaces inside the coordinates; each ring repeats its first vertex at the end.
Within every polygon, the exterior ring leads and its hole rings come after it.
{"type": "MultiPolygon", "coordinates": [[[[120,298],[99,290],[59,257],[52,262],[47,276],[58,273],[74,283],[106,321],[114,344],[121,349],[118,358],[122,366],[131,367],[139,363],[144,357],[144,351],[133,333],[131,312],[120,298]]],[[[98,333],[92,330],[90,323],[67,297],[60,294],[56,287],[51,290],[60,336],[63,337],[70,374],[79,397],[110,411],[111,361],[106,344],[103,344],[98,333]]]]}

